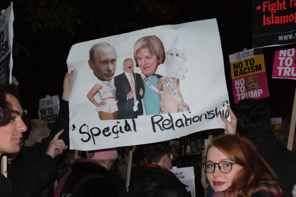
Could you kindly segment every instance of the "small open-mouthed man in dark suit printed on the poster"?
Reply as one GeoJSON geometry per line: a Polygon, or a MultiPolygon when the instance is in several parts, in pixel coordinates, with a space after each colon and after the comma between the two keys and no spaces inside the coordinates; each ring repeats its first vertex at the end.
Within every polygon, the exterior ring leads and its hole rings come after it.
{"type": "Polygon", "coordinates": [[[142,78],[138,73],[133,72],[133,59],[131,58],[123,61],[123,70],[122,74],[114,77],[118,99],[117,119],[137,118],[138,115],[143,115],[141,99],[144,95],[144,85],[142,78]]]}

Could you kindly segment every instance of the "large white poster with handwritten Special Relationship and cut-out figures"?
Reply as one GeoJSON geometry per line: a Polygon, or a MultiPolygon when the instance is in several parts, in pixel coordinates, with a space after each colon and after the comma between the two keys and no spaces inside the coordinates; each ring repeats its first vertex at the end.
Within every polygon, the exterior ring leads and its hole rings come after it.
{"type": "Polygon", "coordinates": [[[67,65],[69,71],[75,72],[69,100],[71,149],[94,150],[170,140],[197,131],[225,128],[220,115],[229,117],[216,19],[158,26],[78,43],[71,47],[67,65]],[[89,60],[92,46],[95,50],[89,60]],[[132,80],[123,70],[127,58],[134,62],[133,72],[139,73],[132,80]],[[120,77],[124,80],[120,81],[120,77]],[[121,86],[126,88],[123,96],[119,92],[121,86]],[[133,102],[128,105],[129,101],[133,102]],[[122,111],[120,102],[126,104],[126,111],[122,111]],[[133,110],[141,109],[143,112],[136,114],[137,118],[111,120],[121,115],[134,116],[133,110]]]}

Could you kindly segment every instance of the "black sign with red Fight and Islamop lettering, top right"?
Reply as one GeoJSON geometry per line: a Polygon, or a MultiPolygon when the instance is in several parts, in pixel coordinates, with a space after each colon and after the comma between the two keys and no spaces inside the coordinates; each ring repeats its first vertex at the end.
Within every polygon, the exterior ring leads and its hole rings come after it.
{"type": "Polygon", "coordinates": [[[296,0],[252,0],[253,48],[296,42],[296,0]]]}

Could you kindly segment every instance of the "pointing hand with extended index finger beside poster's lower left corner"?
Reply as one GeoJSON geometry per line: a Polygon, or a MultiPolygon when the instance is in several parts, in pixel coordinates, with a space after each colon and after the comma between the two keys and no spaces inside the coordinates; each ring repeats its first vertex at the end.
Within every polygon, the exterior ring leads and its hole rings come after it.
{"type": "Polygon", "coordinates": [[[62,152],[68,148],[67,145],[65,145],[64,141],[62,139],[59,139],[59,136],[64,132],[64,129],[60,130],[50,141],[48,148],[45,152],[45,154],[50,155],[53,159],[59,155],[62,154],[62,152]]]}

